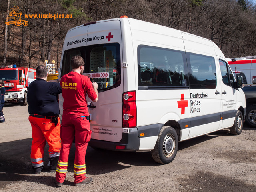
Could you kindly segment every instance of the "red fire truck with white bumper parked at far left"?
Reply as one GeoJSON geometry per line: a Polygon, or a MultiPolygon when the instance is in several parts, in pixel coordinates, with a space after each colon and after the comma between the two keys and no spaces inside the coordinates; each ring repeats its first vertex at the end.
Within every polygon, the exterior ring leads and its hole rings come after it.
{"type": "Polygon", "coordinates": [[[0,80],[5,84],[5,102],[26,106],[29,84],[36,80],[36,70],[28,67],[5,66],[0,68],[0,80]]]}

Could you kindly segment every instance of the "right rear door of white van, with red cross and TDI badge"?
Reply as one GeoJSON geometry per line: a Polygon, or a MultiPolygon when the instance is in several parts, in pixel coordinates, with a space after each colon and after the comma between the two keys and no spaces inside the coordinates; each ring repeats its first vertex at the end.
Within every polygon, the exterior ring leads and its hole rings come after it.
{"type": "MultiPolygon", "coordinates": [[[[97,22],[88,28],[85,73],[98,83],[98,102],[91,103],[92,139],[119,142],[122,138],[123,72],[121,23],[97,22]]],[[[90,101],[87,98],[87,101],[90,101]]]]}

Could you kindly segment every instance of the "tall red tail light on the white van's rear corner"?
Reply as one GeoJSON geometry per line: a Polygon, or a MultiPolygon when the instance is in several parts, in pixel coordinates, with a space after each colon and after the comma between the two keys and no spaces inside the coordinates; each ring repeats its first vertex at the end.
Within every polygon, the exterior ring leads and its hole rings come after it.
{"type": "Polygon", "coordinates": [[[137,126],[136,92],[123,93],[123,128],[137,126]]]}

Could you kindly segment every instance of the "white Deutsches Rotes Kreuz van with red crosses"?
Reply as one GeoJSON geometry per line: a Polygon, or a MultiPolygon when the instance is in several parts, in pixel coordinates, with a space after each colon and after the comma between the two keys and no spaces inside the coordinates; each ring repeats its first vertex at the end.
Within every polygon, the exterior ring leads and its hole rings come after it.
{"type": "Polygon", "coordinates": [[[156,162],[166,164],[180,141],[224,128],[242,132],[242,78],[236,81],[208,39],[116,18],[68,31],[60,76],[70,72],[75,55],[84,58],[84,73],[99,84],[98,102],[89,106],[94,148],[151,151],[156,162]]]}

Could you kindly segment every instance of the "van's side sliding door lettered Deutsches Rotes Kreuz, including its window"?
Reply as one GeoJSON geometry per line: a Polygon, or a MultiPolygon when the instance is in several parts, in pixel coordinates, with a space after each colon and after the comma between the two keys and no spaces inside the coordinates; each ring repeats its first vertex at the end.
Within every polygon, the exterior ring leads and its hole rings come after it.
{"type": "Polygon", "coordinates": [[[189,138],[220,127],[220,85],[214,57],[186,52],[190,83],[189,138]]]}

